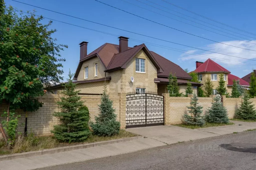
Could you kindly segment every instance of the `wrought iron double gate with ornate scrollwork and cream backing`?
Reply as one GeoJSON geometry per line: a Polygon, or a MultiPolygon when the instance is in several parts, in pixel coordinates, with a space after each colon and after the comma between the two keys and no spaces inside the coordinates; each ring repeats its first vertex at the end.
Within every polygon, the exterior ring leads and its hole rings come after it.
{"type": "Polygon", "coordinates": [[[164,96],[153,93],[126,95],[126,128],[164,124],[164,96]]]}

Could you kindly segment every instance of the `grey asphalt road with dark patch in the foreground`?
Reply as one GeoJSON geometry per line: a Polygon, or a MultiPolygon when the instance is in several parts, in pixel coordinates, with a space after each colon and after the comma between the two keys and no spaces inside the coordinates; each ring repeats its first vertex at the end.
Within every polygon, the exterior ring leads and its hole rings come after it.
{"type": "Polygon", "coordinates": [[[255,144],[241,132],[43,169],[256,169],[255,144]]]}

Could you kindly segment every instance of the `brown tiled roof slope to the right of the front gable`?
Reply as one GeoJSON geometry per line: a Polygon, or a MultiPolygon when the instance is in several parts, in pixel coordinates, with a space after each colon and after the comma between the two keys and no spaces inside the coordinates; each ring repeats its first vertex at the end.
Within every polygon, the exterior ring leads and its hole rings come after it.
{"type": "Polygon", "coordinates": [[[156,54],[153,51],[150,52],[164,71],[163,73],[158,73],[158,76],[169,76],[169,74],[172,73],[173,75],[175,74],[175,76],[179,78],[192,79],[190,75],[188,75],[188,73],[186,73],[177,64],[173,63],[170,60],[167,60],[166,58],[160,56],[159,54],[156,54]]]}

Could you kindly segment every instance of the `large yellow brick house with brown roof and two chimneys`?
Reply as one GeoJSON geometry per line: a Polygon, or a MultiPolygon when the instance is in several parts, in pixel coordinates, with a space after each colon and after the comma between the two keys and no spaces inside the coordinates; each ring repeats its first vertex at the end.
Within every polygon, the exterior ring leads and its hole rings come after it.
{"type": "MultiPolygon", "coordinates": [[[[178,79],[180,92],[185,94],[191,77],[177,64],[148,50],[145,44],[128,47],[128,39],[119,37],[119,45],[105,43],[87,54],[88,42],[80,43],[80,61],[74,82],[82,94],[101,94],[104,84],[108,93],[168,93],[170,73],[178,79]],[[131,79],[134,81],[132,82],[131,79]]],[[[192,82],[197,93],[200,83],[192,82]]],[[[52,89],[60,88],[60,85],[52,89]]]]}

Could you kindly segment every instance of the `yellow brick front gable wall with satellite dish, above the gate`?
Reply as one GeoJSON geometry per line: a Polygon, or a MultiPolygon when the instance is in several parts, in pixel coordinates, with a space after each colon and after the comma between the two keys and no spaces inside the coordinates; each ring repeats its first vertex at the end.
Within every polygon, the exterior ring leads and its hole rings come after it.
{"type": "MultiPolygon", "coordinates": [[[[157,78],[157,69],[150,61],[143,50],[140,50],[127,64],[126,69],[122,70],[121,86],[122,92],[135,91],[136,88],[146,88],[146,91],[157,91],[157,83],[154,79],[157,78]],[[145,73],[136,73],[135,58],[145,59],[145,73]],[[134,82],[131,82],[131,76],[134,77],[134,82]]],[[[112,77],[111,77],[112,79],[112,77]]]]}

